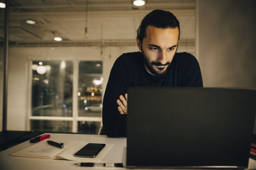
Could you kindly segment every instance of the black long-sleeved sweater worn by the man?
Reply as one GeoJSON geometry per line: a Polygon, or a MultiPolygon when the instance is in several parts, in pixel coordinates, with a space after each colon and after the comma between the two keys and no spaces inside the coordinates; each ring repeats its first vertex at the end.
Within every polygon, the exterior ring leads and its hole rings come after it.
{"type": "Polygon", "coordinates": [[[140,52],[122,54],[111,69],[103,99],[102,133],[109,137],[126,136],[127,115],[120,115],[116,100],[128,87],[203,87],[203,81],[198,61],[190,53],[176,53],[161,76],[146,71],[140,52]]]}

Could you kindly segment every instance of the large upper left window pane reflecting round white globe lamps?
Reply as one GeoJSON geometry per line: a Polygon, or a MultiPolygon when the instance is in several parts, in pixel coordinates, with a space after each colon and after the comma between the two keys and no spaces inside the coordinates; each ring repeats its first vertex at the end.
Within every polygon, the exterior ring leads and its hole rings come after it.
{"type": "Polygon", "coordinates": [[[32,62],[32,116],[72,117],[73,63],[32,62]]]}

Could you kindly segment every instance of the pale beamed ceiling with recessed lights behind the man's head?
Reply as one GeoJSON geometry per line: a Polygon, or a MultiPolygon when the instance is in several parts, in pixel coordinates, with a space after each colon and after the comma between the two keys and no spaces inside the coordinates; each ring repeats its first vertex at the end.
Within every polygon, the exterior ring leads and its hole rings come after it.
{"type": "MultiPolygon", "coordinates": [[[[10,41],[12,46],[135,45],[141,19],[155,9],[172,11],[180,20],[180,43],[195,44],[195,0],[147,0],[140,8],[131,0],[12,0],[10,41]],[[36,24],[26,24],[28,19],[36,24]],[[52,40],[55,36],[63,41],[52,40]]],[[[3,23],[1,12],[1,38],[3,23]]]]}

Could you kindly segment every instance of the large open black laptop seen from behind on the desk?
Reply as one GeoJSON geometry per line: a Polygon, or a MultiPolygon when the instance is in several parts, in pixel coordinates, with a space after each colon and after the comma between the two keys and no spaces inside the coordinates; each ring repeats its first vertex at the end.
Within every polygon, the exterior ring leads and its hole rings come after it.
{"type": "Polygon", "coordinates": [[[248,167],[256,90],[132,87],[128,168],[248,167]]]}

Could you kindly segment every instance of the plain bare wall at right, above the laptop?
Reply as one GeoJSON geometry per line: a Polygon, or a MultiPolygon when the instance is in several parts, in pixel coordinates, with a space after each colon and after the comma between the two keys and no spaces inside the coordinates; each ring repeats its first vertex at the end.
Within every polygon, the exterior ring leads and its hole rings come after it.
{"type": "Polygon", "coordinates": [[[198,57],[205,87],[256,87],[256,1],[198,0],[198,57]]]}

